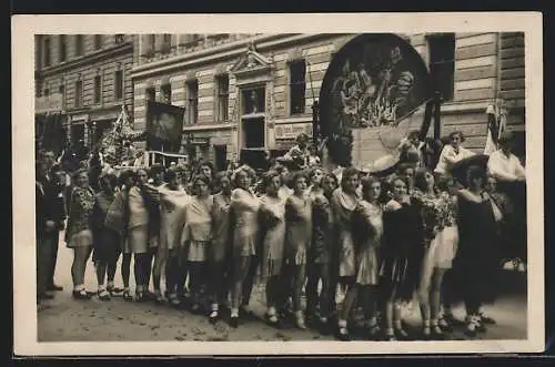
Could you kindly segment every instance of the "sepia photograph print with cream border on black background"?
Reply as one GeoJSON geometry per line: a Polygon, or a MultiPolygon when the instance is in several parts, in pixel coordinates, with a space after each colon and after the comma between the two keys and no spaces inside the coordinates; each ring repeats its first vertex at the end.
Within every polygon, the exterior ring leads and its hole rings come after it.
{"type": "Polygon", "coordinates": [[[12,21],[16,346],[543,349],[541,14],[351,16],[12,21]]]}

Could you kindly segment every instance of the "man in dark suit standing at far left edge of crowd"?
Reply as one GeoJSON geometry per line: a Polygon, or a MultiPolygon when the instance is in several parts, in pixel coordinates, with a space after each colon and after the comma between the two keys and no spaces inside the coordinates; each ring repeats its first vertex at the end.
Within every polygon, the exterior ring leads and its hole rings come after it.
{"type": "Polygon", "coordinates": [[[44,191],[44,220],[47,231],[43,241],[48,248],[48,268],[47,268],[47,290],[62,290],[63,288],[54,283],[56,264],[58,261],[58,246],[60,241],[60,231],[63,230],[65,221],[64,204],[64,172],[59,164],[53,164],[48,174],[42,180],[44,191]]]}

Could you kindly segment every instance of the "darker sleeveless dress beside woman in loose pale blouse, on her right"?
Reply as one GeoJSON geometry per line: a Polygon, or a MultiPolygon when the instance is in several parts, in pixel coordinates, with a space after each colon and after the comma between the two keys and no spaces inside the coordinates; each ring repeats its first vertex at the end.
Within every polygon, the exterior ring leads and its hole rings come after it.
{"type": "Polygon", "coordinates": [[[231,197],[223,193],[214,195],[214,205],[212,206],[213,238],[209,251],[209,259],[213,262],[224,261],[231,252],[230,205],[231,197]]]}

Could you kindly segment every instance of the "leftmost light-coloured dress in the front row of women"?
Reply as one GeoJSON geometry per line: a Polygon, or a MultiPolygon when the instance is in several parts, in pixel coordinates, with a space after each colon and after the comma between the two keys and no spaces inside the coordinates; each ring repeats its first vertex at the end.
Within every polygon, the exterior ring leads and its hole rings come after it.
{"type": "Polygon", "coordinates": [[[124,253],[144,254],[149,249],[149,211],[144,205],[141,190],[129,191],[129,224],[124,253]]]}

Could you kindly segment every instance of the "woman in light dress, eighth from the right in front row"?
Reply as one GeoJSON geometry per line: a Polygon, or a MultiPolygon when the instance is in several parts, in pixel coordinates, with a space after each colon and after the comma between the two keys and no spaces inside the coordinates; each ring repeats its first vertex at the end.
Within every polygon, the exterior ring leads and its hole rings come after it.
{"type": "Polygon", "coordinates": [[[285,198],[279,195],[282,180],[278,171],[269,171],[264,176],[265,194],[261,198],[260,222],[262,232],[262,278],[266,283],[266,322],[279,326],[276,305],[282,294],[280,274],[285,244],[285,198]]]}

